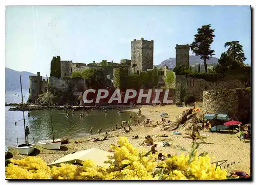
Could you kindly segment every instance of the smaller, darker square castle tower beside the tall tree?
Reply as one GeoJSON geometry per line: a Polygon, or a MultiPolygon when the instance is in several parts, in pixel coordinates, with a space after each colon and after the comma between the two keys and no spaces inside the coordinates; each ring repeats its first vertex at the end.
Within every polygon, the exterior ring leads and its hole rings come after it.
{"type": "Polygon", "coordinates": [[[176,66],[185,65],[189,68],[189,45],[176,44],[176,66]]]}

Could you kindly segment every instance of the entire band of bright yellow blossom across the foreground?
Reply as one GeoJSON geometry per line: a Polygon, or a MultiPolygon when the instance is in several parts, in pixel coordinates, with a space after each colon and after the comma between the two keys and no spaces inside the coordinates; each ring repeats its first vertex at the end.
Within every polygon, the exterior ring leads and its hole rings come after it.
{"type": "Polygon", "coordinates": [[[6,167],[6,178],[23,179],[226,179],[226,170],[216,169],[207,155],[174,155],[164,161],[157,161],[157,154],[144,156],[146,152],[134,148],[126,138],[119,138],[119,146],[111,145],[114,151],[109,156],[108,168],[96,166],[86,160],[83,166],[61,164],[51,169],[38,157],[12,160],[6,167]]]}

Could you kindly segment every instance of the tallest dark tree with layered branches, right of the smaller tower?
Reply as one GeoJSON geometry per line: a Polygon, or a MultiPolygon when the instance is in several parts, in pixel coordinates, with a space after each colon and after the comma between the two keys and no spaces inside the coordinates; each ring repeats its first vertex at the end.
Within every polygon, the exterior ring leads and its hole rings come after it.
{"type": "Polygon", "coordinates": [[[206,60],[212,58],[214,49],[210,49],[210,44],[214,42],[214,29],[210,29],[210,24],[203,25],[202,28],[197,29],[198,33],[194,35],[195,41],[190,45],[191,50],[196,56],[200,56],[204,60],[204,69],[207,73],[206,60]]]}

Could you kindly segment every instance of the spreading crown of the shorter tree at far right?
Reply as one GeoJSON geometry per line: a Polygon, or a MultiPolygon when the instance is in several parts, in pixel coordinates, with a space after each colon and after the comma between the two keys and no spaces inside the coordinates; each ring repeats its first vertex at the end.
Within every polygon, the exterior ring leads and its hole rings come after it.
{"type": "Polygon", "coordinates": [[[224,47],[227,48],[227,55],[236,63],[242,64],[246,57],[244,55],[243,46],[239,44],[239,41],[226,42],[224,47]]]}

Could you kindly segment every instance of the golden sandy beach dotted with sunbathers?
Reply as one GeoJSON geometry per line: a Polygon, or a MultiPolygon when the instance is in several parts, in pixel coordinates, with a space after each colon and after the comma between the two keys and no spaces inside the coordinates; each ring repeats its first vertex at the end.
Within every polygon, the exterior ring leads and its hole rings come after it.
{"type": "MultiPolygon", "coordinates": [[[[156,122],[161,120],[159,116],[161,112],[168,113],[169,118],[167,119],[172,121],[175,119],[177,115],[179,115],[184,109],[187,108],[176,107],[175,105],[165,105],[162,107],[142,106],[134,107],[133,109],[131,108],[128,111],[138,112],[138,109],[140,109],[142,111],[142,115],[145,116],[145,118],[149,118],[152,120],[152,122],[156,122]]],[[[129,121],[129,118],[127,118],[126,121],[129,121]]],[[[190,147],[192,145],[191,139],[185,139],[182,137],[185,131],[182,131],[182,129],[180,128],[178,128],[178,130],[181,132],[182,135],[173,135],[172,131],[160,131],[160,127],[153,128],[134,126],[132,128],[133,131],[131,133],[120,133],[120,130],[108,132],[109,134],[112,134],[115,137],[108,138],[108,140],[105,141],[88,141],[90,138],[99,137],[99,135],[92,135],[83,138],[77,138],[76,140],[70,140],[70,143],[62,145],[60,150],[47,150],[39,146],[36,146],[34,155],[41,157],[42,160],[49,164],[56,161],[58,158],[75,151],[90,148],[100,148],[103,150],[108,150],[110,149],[109,145],[111,143],[116,144],[119,137],[127,137],[133,146],[148,151],[150,150],[150,146],[139,146],[139,143],[141,143],[144,140],[146,135],[153,136],[152,138],[154,139],[155,143],[160,144],[163,141],[167,141],[171,146],[157,146],[156,149],[159,152],[169,153],[171,155],[183,153],[183,151],[177,150],[174,147],[175,145],[184,147],[186,150],[190,150],[190,147]],[[161,138],[154,136],[158,134],[165,134],[168,137],[161,138]],[[132,139],[132,136],[136,135],[139,135],[139,139],[132,139]],[[80,141],[81,143],[76,144],[75,141],[80,141]]],[[[102,130],[102,134],[100,137],[102,137],[104,133],[105,131],[102,130]]],[[[201,132],[200,134],[203,133],[201,132]]],[[[240,142],[239,138],[237,137],[238,134],[229,134],[229,132],[210,133],[208,131],[205,131],[204,134],[208,135],[207,138],[205,139],[207,144],[200,144],[199,153],[207,151],[209,153],[209,156],[215,157],[215,159],[212,159],[212,162],[227,160],[227,162],[225,162],[222,165],[222,168],[224,168],[225,165],[225,169],[227,169],[228,172],[231,172],[232,170],[242,170],[250,174],[250,142],[240,142]]],[[[196,140],[196,142],[201,143],[200,140],[196,140]]],[[[13,158],[22,157],[17,154],[17,151],[14,148],[9,147],[9,152],[12,153],[13,158]]],[[[8,154],[8,156],[9,155],[10,154],[8,154]]]]}

